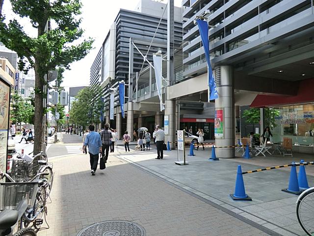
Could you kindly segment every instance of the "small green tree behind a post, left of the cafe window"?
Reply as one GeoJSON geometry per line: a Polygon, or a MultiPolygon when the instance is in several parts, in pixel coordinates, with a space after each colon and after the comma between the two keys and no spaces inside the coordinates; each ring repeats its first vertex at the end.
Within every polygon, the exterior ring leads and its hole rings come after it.
{"type": "MultiPolygon", "coordinates": [[[[277,126],[275,117],[279,116],[279,111],[271,108],[264,108],[264,120],[267,125],[273,129],[277,126]]],[[[243,112],[243,118],[246,119],[248,123],[259,124],[261,121],[261,111],[259,108],[251,108],[243,112]]]]}

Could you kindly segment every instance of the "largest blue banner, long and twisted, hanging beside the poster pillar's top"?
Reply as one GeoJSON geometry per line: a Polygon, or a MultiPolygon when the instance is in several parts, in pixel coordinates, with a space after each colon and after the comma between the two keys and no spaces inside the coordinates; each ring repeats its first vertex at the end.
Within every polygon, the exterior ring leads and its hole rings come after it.
{"type": "Polygon", "coordinates": [[[208,84],[209,84],[209,100],[214,100],[218,98],[218,92],[216,89],[215,80],[212,74],[212,69],[210,65],[210,56],[209,56],[209,35],[208,35],[208,23],[207,21],[203,20],[196,20],[198,29],[200,31],[202,43],[204,46],[205,57],[207,60],[207,67],[208,67],[208,84]]]}

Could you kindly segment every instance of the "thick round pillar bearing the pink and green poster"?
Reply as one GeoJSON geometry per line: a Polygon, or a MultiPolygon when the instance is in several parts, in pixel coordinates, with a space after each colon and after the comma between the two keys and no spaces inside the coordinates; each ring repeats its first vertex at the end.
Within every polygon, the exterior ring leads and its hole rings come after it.
{"type": "MultiPolygon", "coordinates": [[[[235,145],[235,93],[232,66],[220,66],[220,84],[217,85],[219,98],[215,100],[215,110],[223,112],[223,135],[215,133],[217,147],[235,145]]],[[[235,148],[217,148],[216,156],[219,158],[235,157],[235,148]]]]}

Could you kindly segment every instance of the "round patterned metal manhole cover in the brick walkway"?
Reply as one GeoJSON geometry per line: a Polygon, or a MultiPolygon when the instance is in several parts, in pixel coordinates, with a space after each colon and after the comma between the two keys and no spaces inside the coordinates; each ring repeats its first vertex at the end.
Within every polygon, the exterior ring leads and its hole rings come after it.
{"type": "Polygon", "coordinates": [[[82,229],[78,236],[145,236],[145,230],[130,221],[109,220],[82,229]]]}

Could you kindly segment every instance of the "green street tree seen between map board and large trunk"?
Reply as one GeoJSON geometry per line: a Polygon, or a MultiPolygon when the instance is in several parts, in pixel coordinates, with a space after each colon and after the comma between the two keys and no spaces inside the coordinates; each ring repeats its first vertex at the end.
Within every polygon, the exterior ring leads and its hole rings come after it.
{"type": "Polygon", "coordinates": [[[27,124],[34,123],[34,106],[31,102],[31,97],[24,100],[20,95],[12,95],[12,111],[11,122],[13,124],[19,124],[25,122],[27,124]]]}

